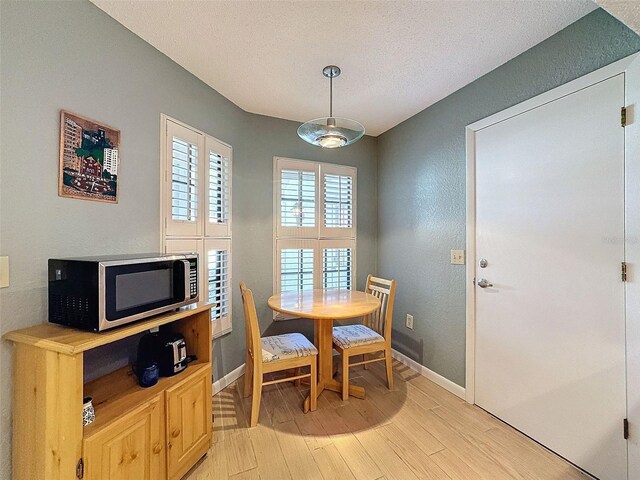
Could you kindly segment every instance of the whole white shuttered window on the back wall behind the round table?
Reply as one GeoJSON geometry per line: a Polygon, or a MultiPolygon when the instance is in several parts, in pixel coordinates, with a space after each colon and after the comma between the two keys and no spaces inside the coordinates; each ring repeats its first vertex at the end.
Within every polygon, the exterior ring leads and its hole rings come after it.
{"type": "Polygon", "coordinates": [[[275,293],[356,288],[356,175],[355,167],[274,157],[275,293]]]}

